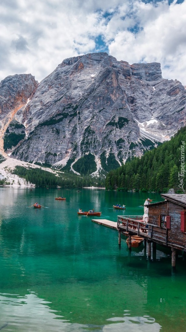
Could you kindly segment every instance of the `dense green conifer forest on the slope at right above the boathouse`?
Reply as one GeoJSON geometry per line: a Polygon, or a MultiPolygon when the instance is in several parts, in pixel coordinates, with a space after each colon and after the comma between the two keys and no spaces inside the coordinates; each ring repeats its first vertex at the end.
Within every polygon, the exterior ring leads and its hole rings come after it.
{"type": "Polygon", "coordinates": [[[135,189],[163,193],[174,188],[177,193],[184,193],[178,187],[182,142],[186,144],[186,127],[181,128],[170,141],[144,153],[141,158],[134,157],[121,167],[110,171],[105,179],[106,190],[135,189]]]}

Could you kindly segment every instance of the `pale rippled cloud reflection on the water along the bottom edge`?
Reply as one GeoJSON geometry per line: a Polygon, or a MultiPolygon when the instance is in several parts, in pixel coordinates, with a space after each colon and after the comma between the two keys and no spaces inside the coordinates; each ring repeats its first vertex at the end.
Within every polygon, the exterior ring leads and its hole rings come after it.
{"type": "Polygon", "coordinates": [[[149,330],[159,332],[161,328],[154,318],[150,316],[134,317],[128,310],[124,310],[124,317],[108,318],[108,323],[103,326],[70,323],[63,319],[61,312],[52,310],[49,306],[50,303],[39,298],[38,294],[30,290],[24,296],[0,293],[0,329],[7,332],[148,332],[149,330]],[[126,311],[128,312],[125,313],[126,311]]]}

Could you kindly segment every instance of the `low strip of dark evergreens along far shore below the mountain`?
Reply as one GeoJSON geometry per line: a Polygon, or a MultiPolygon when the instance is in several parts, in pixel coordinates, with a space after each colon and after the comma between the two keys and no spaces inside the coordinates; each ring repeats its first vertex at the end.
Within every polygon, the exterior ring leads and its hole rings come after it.
{"type": "Polygon", "coordinates": [[[80,177],[70,172],[62,173],[58,171],[58,176],[56,176],[54,173],[44,171],[40,168],[27,169],[22,166],[16,166],[13,173],[25,179],[26,183],[33,183],[37,187],[104,187],[104,180],[101,178],[91,178],[90,176],[80,177]]]}

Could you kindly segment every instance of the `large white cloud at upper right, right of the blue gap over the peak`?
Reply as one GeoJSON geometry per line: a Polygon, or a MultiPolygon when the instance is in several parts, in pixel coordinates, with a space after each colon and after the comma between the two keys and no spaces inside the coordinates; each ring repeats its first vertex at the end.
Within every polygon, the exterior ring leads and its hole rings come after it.
{"type": "MultiPolygon", "coordinates": [[[[110,54],[117,57],[118,60],[125,58],[130,64],[160,62],[164,78],[178,79],[186,84],[184,60],[186,2],[184,1],[182,4],[173,2],[169,6],[166,1],[163,1],[154,6],[153,3],[144,4],[136,1],[133,3],[132,10],[130,13],[132,13],[133,24],[137,22],[139,31],[134,33],[125,28],[120,29],[120,25],[122,26],[123,23],[118,17],[118,32],[114,40],[109,42],[108,34],[110,54]]],[[[120,17],[122,15],[121,8],[120,17]]]]}

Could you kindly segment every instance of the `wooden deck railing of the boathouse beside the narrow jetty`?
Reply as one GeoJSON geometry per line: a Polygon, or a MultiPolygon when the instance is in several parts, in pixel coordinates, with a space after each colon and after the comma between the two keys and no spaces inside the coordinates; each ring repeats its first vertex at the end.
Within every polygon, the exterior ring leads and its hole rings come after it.
{"type": "Polygon", "coordinates": [[[148,228],[146,227],[148,224],[142,218],[142,215],[118,215],[117,228],[137,235],[140,232],[148,234],[148,228]]]}

